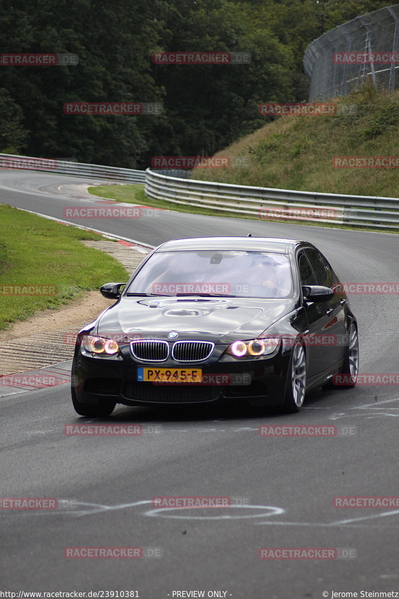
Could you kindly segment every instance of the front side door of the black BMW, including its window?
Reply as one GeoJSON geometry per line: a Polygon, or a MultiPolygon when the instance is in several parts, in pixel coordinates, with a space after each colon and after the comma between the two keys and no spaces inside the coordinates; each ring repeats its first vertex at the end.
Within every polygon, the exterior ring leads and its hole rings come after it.
{"type": "MultiPolygon", "coordinates": [[[[318,278],[305,250],[301,250],[298,253],[297,260],[300,284],[302,286],[319,285],[318,278]]],[[[309,356],[307,376],[311,378],[322,373],[330,365],[328,348],[319,341],[319,335],[330,318],[327,314],[328,308],[325,302],[303,301],[303,307],[306,312],[308,325],[306,335],[306,352],[309,356]]]]}

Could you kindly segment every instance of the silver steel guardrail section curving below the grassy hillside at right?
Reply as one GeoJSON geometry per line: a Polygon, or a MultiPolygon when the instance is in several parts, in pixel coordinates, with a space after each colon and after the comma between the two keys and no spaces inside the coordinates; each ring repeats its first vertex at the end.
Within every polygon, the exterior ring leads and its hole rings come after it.
{"type": "Polygon", "coordinates": [[[399,198],[251,187],[169,177],[147,168],[145,193],[174,204],[246,214],[262,220],[292,220],[399,229],[399,198]]]}

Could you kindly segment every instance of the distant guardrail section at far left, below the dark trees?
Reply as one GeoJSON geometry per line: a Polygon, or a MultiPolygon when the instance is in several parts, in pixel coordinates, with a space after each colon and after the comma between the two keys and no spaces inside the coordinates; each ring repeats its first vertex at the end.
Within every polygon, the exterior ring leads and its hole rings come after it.
{"type": "Polygon", "coordinates": [[[69,162],[56,158],[35,158],[33,156],[16,156],[14,154],[0,154],[1,168],[16,168],[32,171],[45,171],[60,175],[77,177],[96,177],[112,181],[126,181],[127,183],[144,183],[145,171],[132,168],[104,167],[101,164],[84,164],[83,162],[69,162]]]}

